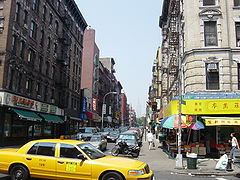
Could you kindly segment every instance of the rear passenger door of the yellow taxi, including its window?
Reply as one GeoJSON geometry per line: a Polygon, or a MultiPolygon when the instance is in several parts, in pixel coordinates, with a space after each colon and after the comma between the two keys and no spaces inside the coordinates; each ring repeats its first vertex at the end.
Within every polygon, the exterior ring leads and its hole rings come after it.
{"type": "Polygon", "coordinates": [[[38,142],[24,155],[32,177],[56,178],[56,143],[38,142]]]}

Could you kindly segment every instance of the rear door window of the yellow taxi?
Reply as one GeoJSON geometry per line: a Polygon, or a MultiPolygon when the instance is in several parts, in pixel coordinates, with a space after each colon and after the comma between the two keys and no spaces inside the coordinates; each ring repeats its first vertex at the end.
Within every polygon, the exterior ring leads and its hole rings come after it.
{"type": "Polygon", "coordinates": [[[27,154],[42,155],[42,156],[54,156],[56,143],[40,142],[34,144],[27,154]]]}

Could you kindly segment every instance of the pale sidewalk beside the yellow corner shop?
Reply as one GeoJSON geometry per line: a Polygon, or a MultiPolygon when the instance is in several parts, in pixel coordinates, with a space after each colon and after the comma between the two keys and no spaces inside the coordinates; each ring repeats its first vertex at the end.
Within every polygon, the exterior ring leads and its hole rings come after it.
{"type": "Polygon", "coordinates": [[[155,139],[155,149],[149,150],[148,143],[143,136],[143,146],[139,160],[147,162],[153,171],[166,171],[192,176],[235,176],[240,173],[240,166],[233,165],[233,171],[216,170],[218,159],[198,159],[197,169],[187,169],[187,159],[183,158],[183,169],[176,169],[176,160],[168,156],[160,148],[160,143],[155,139]]]}

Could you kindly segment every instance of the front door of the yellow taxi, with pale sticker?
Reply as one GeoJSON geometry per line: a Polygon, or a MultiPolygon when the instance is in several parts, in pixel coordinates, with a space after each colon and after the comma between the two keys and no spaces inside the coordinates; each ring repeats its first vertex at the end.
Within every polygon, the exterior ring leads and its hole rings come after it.
{"type": "Polygon", "coordinates": [[[71,144],[60,143],[56,162],[58,179],[91,179],[92,164],[89,160],[78,159],[81,152],[71,144]]]}

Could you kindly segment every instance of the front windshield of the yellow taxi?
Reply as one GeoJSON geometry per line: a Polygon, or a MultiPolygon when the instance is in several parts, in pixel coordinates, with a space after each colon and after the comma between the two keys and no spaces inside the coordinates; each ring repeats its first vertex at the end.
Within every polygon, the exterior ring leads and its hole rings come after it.
{"type": "Polygon", "coordinates": [[[106,156],[103,152],[89,143],[78,144],[78,147],[91,159],[98,159],[106,156]]]}

